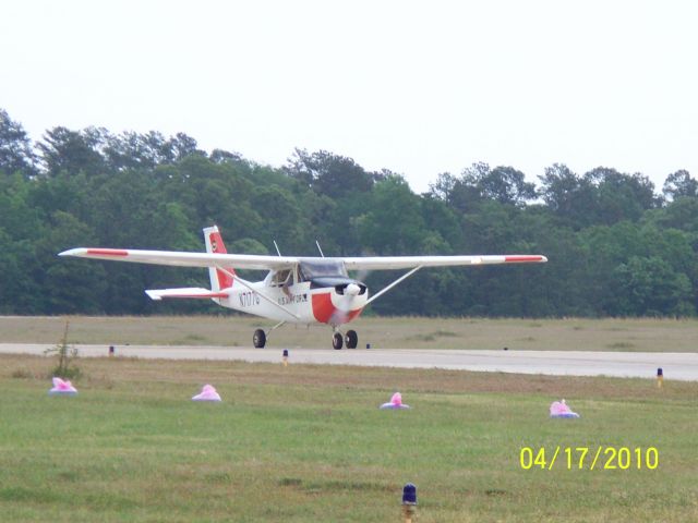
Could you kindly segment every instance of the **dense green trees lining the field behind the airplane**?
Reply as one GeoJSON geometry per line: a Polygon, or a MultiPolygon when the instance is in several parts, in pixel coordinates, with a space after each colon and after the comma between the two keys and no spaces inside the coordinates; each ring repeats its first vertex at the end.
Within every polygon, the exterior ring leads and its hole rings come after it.
{"type": "MultiPolygon", "coordinates": [[[[0,110],[0,313],[218,311],[152,303],[143,289],[206,285],[207,275],[58,258],[79,245],[200,251],[217,223],[230,251],[314,255],[542,253],[544,266],[423,270],[378,314],[694,316],[698,182],[553,165],[442,173],[414,194],[399,174],[297,149],[280,169],[197,148],[178,134],[48,130],[33,144],[0,110]],[[272,247],[272,248],[270,248],[272,247]]],[[[398,275],[360,275],[377,290],[398,275]]]]}

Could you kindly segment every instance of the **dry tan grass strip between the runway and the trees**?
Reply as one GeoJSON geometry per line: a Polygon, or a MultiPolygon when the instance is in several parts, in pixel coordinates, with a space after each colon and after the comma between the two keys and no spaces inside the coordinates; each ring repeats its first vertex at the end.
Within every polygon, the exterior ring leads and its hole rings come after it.
{"type": "MultiPolygon", "coordinates": [[[[252,332],[272,321],[241,316],[0,317],[0,343],[55,343],[70,320],[73,343],[251,346],[252,332]]],[[[698,320],[359,318],[360,346],[695,352],[698,320]]],[[[330,346],[327,326],[285,326],[269,346],[330,346]]]]}

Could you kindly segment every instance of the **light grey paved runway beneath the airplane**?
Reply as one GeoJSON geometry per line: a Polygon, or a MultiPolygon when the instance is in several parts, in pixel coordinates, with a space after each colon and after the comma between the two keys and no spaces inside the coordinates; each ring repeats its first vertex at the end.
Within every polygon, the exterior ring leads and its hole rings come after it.
{"type": "MultiPolygon", "coordinates": [[[[0,343],[0,353],[43,354],[51,344],[0,343]]],[[[76,345],[81,356],[107,356],[107,345],[76,345]]],[[[117,356],[167,360],[281,361],[282,348],[117,345],[117,356]]],[[[698,381],[698,353],[579,351],[457,351],[418,349],[289,349],[290,363],[447,368],[558,376],[654,378],[698,381]]]]}

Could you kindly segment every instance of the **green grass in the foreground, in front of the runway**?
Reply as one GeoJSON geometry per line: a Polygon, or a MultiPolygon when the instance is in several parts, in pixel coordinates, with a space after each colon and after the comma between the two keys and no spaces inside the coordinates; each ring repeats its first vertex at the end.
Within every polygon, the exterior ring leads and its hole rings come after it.
{"type": "Polygon", "coordinates": [[[105,358],[50,398],[51,363],[0,357],[2,522],[401,521],[407,482],[422,523],[698,518],[698,384],[105,358]],[[395,390],[412,410],[378,411],[395,390]],[[547,418],[561,397],[580,419],[547,418]],[[519,464],[602,445],[659,469],[519,464]]]}

